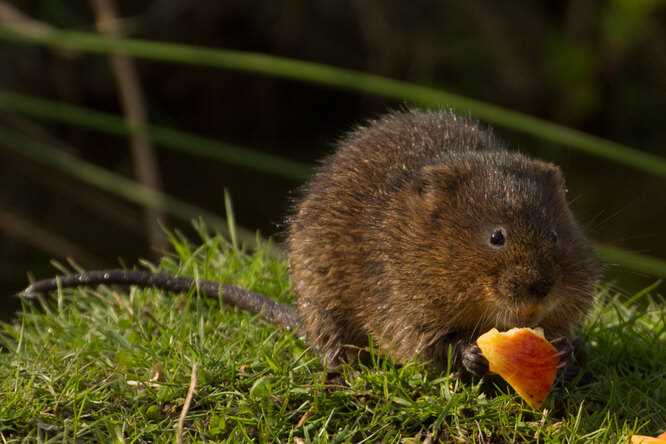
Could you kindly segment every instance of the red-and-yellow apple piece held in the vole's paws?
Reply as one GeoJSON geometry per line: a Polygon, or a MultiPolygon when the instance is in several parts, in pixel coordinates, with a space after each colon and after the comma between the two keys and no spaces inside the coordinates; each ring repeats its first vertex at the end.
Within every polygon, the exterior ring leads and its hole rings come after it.
{"type": "Polygon", "coordinates": [[[500,375],[532,408],[539,408],[555,382],[559,358],[540,328],[496,328],[476,340],[490,371],[500,375]]]}

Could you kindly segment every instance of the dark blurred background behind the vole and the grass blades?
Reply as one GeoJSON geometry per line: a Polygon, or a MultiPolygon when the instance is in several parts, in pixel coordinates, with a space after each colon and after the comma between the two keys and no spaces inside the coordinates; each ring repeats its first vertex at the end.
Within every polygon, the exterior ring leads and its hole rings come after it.
{"type": "MultiPolygon", "coordinates": [[[[95,29],[87,1],[7,3],[54,26],[95,29]]],[[[130,37],[379,74],[666,155],[664,1],[118,0],[117,8],[130,37]]],[[[141,60],[136,66],[151,123],[308,163],[329,153],[354,124],[403,105],[251,73],[141,60]]],[[[122,114],[103,55],[0,42],[0,89],[122,114]]],[[[0,113],[0,126],[33,129],[73,147],[82,159],[133,175],[126,139],[8,113],[0,113]]],[[[666,258],[666,181],[518,132],[498,132],[561,165],[591,237],[666,258]]],[[[159,147],[157,155],[166,193],[224,214],[227,188],[239,225],[279,239],[298,181],[159,147]]],[[[80,262],[92,268],[159,256],[149,247],[141,208],[2,149],[2,140],[0,212],[6,307],[28,272],[54,273],[52,258],[85,257],[80,262]],[[27,235],[17,227],[27,227],[27,235]],[[66,242],[54,243],[42,232],[66,242]]],[[[166,225],[192,233],[174,219],[166,225]]],[[[606,273],[626,291],[655,280],[612,264],[606,273]]]]}

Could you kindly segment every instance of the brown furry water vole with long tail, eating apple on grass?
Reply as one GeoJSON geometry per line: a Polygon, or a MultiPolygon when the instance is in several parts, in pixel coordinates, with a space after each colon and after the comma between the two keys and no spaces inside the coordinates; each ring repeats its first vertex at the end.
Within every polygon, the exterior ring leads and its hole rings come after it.
{"type": "Polygon", "coordinates": [[[197,286],[298,330],[329,366],[372,337],[399,362],[438,368],[452,345],[458,366],[482,374],[479,334],[540,326],[569,343],[599,278],[559,168],[450,111],[393,112],[352,131],[306,185],[288,227],[295,308],[217,282],[123,270],[41,281],[24,295],[197,286]]]}

